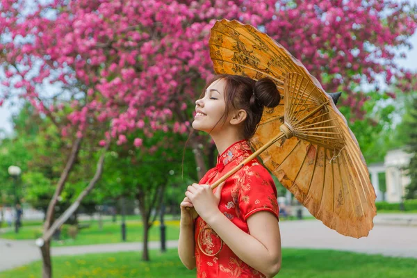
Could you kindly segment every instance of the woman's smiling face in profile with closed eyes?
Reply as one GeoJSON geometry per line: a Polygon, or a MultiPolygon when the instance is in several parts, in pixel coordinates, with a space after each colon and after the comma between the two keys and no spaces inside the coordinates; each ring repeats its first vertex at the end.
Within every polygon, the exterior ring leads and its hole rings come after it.
{"type": "MultiPolygon", "coordinates": [[[[226,104],[224,102],[224,79],[218,79],[211,83],[202,99],[195,101],[195,111],[197,112],[193,129],[205,131],[207,133],[215,133],[222,129],[223,120],[219,122],[224,114],[226,104]],[[217,126],[216,126],[217,124],[217,126]],[[215,129],[213,127],[215,126],[215,129]]],[[[225,122],[224,124],[227,124],[225,122]]]]}

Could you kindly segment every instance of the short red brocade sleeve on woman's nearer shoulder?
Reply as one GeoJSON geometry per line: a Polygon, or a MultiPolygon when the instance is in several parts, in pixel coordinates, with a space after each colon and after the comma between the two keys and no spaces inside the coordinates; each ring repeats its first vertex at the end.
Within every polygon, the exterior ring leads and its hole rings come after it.
{"type": "Polygon", "coordinates": [[[258,211],[270,211],[279,220],[277,188],[268,170],[257,165],[244,167],[241,174],[239,208],[243,220],[258,211]]]}

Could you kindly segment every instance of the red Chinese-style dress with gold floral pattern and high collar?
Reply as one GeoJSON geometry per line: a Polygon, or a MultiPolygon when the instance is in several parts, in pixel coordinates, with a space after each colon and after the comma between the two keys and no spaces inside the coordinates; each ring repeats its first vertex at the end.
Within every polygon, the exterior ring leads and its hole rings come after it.
{"type": "MultiPolygon", "coordinates": [[[[235,142],[218,156],[216,167],[209,170],[199,184],[213,184],[250,154],[252,150],[247,140],[235,142]]],[[[253,213],[270,211],[278,218],[275,183],[256,158],[226,180],[219,209],[247,234],[250,233],[246,220],[253,213]]],[[[240,260],[200,217],[195,220],[195,260],[197,278],[265,277],[240,260]]]]}

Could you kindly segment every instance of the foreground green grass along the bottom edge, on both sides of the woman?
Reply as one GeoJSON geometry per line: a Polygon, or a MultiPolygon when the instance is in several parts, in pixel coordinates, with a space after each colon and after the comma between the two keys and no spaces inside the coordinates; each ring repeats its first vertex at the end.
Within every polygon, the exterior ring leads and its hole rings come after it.
{"type": "MultiPolygon", "coordinates": [[[[195,277],[179,260],[177,250],[161,254],[150,252],[150,262],[140,261],[139,252],[59,256],[53,259],[54,277],[60,278],[127,278],[127,277],[195,277]]],[[[284,249],[279,278],[403,278],[414,277],[416,259],[388,258],[332,250],[284,249]]],[[[0,272],[0,278],[41,277],[41,263],[0,272]]]]}

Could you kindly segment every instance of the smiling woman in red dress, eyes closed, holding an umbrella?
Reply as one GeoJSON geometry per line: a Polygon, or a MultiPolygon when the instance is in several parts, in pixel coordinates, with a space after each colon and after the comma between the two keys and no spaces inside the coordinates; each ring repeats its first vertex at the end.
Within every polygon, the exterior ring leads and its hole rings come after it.
{"type": "Polygon", "coordinates": [[[178,253],[197,277],[274,277],[281,268],[277,190],[257,159],[213,191],[210,184],[252,154],[263,106],[279,104],[270,79],[219,75],[196,103],[193,129],[210,134],[220,154],[181,202],[178,253]],[[198,213],[198,215],[197,215],[198,213]]]}

